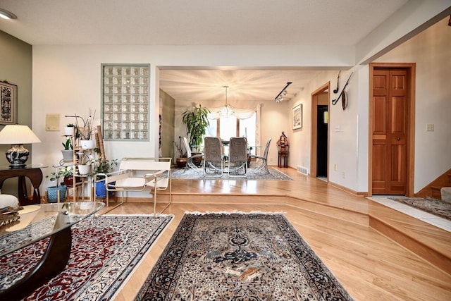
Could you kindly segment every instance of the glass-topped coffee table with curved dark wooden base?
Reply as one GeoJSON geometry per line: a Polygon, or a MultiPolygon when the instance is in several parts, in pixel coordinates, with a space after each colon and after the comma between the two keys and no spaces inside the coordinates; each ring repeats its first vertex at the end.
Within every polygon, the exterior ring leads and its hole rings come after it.
{"type": "Polygon", "coordinates": [[[103,202],[68,202],[24,206],[20,219],[0,227],[0,257],[50,237],[38,264],[0,291],[0,300],[19,300],[63,271],[72,246],[71,227],[105,206],[103,202]]]}

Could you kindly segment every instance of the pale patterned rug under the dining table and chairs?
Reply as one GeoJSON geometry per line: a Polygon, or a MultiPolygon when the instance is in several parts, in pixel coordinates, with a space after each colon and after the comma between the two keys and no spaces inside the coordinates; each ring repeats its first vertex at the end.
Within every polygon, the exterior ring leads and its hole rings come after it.
{"type": "Polygon", "coordinates": [[[173,169],[172,178],[173,179],[191,179],[191,180],[206,180],[206,179],[221,179],[221,180],[293,180],[285,173],[278,171],[276,168],[268,167],[269,174],[265,174],[264,171],[258,171],[254,173],[255,168],[250,167],[247,170],[247,177],[242,178],[231,178],[227,173],[223,173],[221,178],[215,177],[205,177],[204,173],[197,173],[192,168],[186,169],[173,169]]]}

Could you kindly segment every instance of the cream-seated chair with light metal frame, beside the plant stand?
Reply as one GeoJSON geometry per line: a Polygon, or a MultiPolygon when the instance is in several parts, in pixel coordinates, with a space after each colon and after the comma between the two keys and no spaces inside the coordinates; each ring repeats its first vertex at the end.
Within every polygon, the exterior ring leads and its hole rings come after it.
{"type": "MultiPolygon", "coordinates": [[[[109,206],[109,192],[121,192],[121,203],[124,202],[126,192],[143,191],[149,189],[154,199],[154,216],[156,216],[156,192],[169,189],[169,202],[160,211],[161,214],[171,204],[171,158],[123,158],[119,170],[111,173],[98,173],[105,177],[106,206],[109,206]]],[[[111,209],[111,210],[112,210],[111,209]]]]}

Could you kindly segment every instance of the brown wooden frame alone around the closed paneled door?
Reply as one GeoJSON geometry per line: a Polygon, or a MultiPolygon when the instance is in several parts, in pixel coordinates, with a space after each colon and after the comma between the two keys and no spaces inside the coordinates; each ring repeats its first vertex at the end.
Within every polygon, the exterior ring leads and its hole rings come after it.
{"type": "Polygon", "coordinates": [[[368,147],[368,195],[373,195],[373,75],[376,68],[403,68],[407,70],[409,82],[409,99],[407,102],[407,166],[406,166],[406,196],[414,196],[415,180],[415,73],[416,63],[370,63],[369,64],[369,147],[368,147]]]}

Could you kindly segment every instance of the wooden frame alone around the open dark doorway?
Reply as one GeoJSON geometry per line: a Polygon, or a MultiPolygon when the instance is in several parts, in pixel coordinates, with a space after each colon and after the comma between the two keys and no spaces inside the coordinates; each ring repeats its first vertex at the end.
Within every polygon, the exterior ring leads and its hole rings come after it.
{"type": "MultiPolygon", "coordinates": [[[[317,114],[317,106],[318,106],[318,98],[316,97],[318,94],[323,92],[327,92],[328,99],[328,108],[330,108],[330,81],[326,82],[326,84],[322,85],[314,92],[310,94],[311,98],[311,138],[310,138],[310,176],[316,178],[316,161],[318,160],[316,155],[316,140],[318,139],[318,131],[316,130],[316,125],[318,125],[318,116],[317,114]]],[[[329,109],[328,109],[329,111],[329,109]]],[[[330,111],[329,111],[329,123],[330,123],[330,111]]],[[[329,171],[329,137],[330,137],[330,128],[327,130],[327,168],[329,171]]],[[[329,181],[329,172],[327,173],[327,181],[329,181]]]]}

